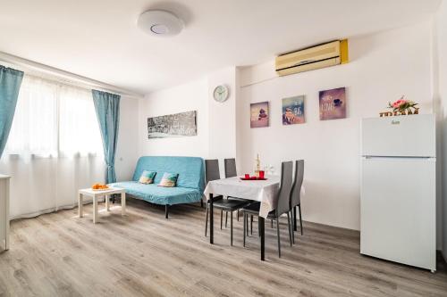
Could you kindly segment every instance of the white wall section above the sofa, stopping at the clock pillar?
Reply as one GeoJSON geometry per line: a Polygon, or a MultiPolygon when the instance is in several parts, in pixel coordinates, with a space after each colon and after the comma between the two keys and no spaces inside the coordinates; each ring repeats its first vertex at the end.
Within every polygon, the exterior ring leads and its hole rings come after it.
{"type": "Polygon", "coordinates": [[[164,89],[139,99],[139,155],[208,155],[207,79],[164,89]],[[197,111],[198,135],[148,139],[148,118],[183,111],[197,111]]]}

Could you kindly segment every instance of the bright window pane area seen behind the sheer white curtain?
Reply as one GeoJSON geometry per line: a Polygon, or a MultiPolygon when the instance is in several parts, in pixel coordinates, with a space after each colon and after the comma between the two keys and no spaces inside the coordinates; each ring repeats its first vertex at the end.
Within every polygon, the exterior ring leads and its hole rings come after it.
{"type": "Polygon", "coordinates": [[[41,156],[101,154],[91,91],[25,76],[5,152],[41,156]]]}

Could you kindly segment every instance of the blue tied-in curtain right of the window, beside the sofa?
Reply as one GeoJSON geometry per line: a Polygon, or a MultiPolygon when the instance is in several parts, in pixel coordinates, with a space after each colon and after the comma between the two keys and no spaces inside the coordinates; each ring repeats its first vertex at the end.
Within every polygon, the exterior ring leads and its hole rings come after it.
{"type": "Polygon", "coordinates": [[[118,126],[120,123],[120,95],[110,94],[97,90],[91,91],[93,102],[97,111],[97,121],[103,138],[105,169],[105,182],[116,182],[114,173],[114,155],[118,142],[118,126]]]}

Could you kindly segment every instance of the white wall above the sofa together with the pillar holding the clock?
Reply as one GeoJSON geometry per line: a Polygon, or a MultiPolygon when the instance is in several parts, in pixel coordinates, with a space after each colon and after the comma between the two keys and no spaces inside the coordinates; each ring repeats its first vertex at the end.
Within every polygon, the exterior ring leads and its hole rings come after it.
{"type": "MultiPolygon", "coordinates": [[[[146,95],[139,100],[139,155],[184,155],[223,160],[236,156],[236,68],[228,67],[191,81],[146,95]],[[230,89],[224,103],[216,103],[216,86],[230,89]],[[148,139],[148,117],[198,111],[198,136],[148,139]]],[[[223,176],[223,162],[221,175],[223,176]]]]}

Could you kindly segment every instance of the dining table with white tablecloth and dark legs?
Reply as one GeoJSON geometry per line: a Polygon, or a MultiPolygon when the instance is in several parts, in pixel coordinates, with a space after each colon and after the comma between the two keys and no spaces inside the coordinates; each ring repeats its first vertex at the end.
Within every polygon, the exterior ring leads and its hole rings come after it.
{"type": "Polygon", "coordinates": [[[261,241],[261,260],[265,260],[265,219],[268,213],[276,208],[280,179],[279,176],[266,176],[264,180],[242,180],[241,177],[228,177],[209,181],[204,191],[209,203],[209,243],[214,243],[213,197],[223,195],[261,202],[257,224],[261,241]]]}

